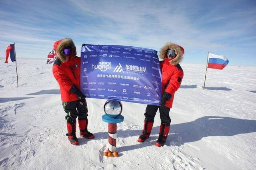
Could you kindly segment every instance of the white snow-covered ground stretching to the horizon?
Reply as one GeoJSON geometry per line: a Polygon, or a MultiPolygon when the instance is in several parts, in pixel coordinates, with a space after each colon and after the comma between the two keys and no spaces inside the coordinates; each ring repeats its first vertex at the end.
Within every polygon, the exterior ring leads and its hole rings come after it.
{"type": "MultiPolygon", "coordinates": [[[[137,142],[146,105],[123,102],[124,122],[117,128],[119,157],[103,156],[108,124],[101,120],[105,100],[86,99],[88,129],[95,138],[67,140],[52,64],[46,60],[0,61],[0,169],[256,169],[256,68],[208,69],[182,64],[184,79],[175,94],[168,140],[154,146],[152,135],[137,142]]],[[[79,131],[77,127],[77,131],[79,131]]],[[[78,132],[77,132],[78,135],[78,132]]]]}

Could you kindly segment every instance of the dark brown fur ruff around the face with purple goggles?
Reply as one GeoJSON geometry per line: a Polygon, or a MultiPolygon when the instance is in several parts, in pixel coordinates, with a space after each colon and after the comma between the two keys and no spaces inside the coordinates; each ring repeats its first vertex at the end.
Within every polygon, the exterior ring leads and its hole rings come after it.
{"type": "Polygon", "coordinates": [[[66,48],[70,48],[71,55],[72,55],[71,57],[76,56],[76,46],[75,46],[73,40],[70,38],[64,38],[63,40],[60,41],[60,43],[58,44],[58,46],[56,48],[56,55],[62,63],[64,63],[65,61],[68,60],[67,55],[64,53],[64,49],[66,49],[66,48]]]}

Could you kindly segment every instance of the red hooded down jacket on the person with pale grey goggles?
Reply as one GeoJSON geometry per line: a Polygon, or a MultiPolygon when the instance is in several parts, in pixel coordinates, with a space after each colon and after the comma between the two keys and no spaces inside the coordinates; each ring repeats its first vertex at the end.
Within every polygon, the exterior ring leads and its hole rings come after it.
{"type": "Polygon", "coordinates": [[[170,93],[172,95],[171,99],[166,101],[165,107],[172,108],[172,102],[174,99],[174,93],[180,87],[183,70],[180,67],[180,62],[184,54],[184,49],[174,43],[166,43],[160,51],[160,58],[164,61],[160,61],[160,67],[162,71],[162,95],[164,92],[170,93]],[[174,59],[166,58],[166,52],[168,49],[174,49],[176,51],[177,57],[174,59]]]}

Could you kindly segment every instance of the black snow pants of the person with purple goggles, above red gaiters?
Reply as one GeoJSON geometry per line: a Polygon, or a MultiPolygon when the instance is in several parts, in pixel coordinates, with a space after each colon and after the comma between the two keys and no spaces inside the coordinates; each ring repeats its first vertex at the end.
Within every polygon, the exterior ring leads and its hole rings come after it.
{"type": "Polygon", "coordinates": [[[72,101],[72,102],[62,102],[64,111],[67,113],[66,122],[72,123],[76,121],[76,117],[80,120],[87,119],[88,109],[85,99],[72,101]]]}

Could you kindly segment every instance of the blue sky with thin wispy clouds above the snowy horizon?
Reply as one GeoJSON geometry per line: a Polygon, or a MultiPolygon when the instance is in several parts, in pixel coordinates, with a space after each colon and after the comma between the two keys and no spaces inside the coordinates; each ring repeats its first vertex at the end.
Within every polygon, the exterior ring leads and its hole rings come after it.
{"type": "Polygon", "coordinates": [[[0,57],[45,58],[56,40],[146,47],[184,47],[184,63],[206,64],[208,51],[229,65],[256,67],[256,1],[0,1],[0,57]]]}

